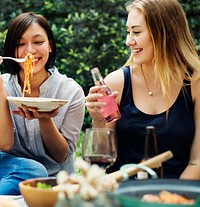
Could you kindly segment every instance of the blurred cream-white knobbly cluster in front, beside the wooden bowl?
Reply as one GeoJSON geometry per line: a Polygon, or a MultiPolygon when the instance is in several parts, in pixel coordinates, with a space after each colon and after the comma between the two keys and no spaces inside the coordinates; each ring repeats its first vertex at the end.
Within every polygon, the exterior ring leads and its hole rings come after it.
{"type": "Polygon", "coordinates": [[[73,199],[80,195],[83,200],[91,201],[105,191],[113,192],[118,188],[114,178],[106,176],[104,170],[98,165],[90,165],[82,159],[75,162],[82,175],[70,174],[60,171],[57,175],[59,198],[73,199]]]}

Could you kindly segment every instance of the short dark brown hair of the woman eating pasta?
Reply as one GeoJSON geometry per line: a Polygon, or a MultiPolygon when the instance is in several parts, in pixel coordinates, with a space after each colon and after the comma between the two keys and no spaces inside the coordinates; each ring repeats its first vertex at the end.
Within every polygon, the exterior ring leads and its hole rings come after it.
{"type": "MultiPolygon", "coordinates": [[[[24,34],[24,32],[28,29],[28,27],[32,23],[38,23],[45,31],[51,45],[52,52],[49,53],[49,59],[45,65],[45,69],[54,66],[55,57],[56,57],[56,44],[54,40],[53,32],[47,23],[46,19],[40,15],[35,14],[33,12],[26,12],[15,17],[9,28],[8,33],[6,35],[6,40],[4,44],[4,56],[15,57],[15,51],[19,41],[24,34]]],[[[20,66],[15,61],[4,61],[5,72],[10,73],[12,75],[17,74],[20,71],[20,66]]]]}

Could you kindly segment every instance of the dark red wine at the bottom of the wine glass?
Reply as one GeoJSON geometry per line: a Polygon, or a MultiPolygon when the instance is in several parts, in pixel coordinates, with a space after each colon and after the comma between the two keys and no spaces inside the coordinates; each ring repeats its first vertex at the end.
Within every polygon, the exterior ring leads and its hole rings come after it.
{"type": "Polygon", "coordinates": [[[116,158],[111,157],[109,155],[91,155],[91,156],[85,156],[83,159],[91,164],[96,164],[102,168],[109,167],[116,160],[116,158]]]}

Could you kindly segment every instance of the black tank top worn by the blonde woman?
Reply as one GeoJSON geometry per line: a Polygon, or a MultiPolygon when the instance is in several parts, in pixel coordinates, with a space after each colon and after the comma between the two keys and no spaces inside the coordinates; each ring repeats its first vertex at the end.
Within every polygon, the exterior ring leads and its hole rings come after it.
{"type": "Polygon", "coordinates": [[[121,119],[116,123],[118,158],[107,172],[119,170],[128,163],[139,163],[144,156],[145,127],[156,127],[158,153],[171,150],[173,158],[163,163],[164,178],[178,178],[188,165],[194,137],[193,102],[191,87],[185,86],[175,103],[166,112],[149,115],[140,111],[132,96],[131,73],[124,67],[124,88],[120,103],[121,119]]]}

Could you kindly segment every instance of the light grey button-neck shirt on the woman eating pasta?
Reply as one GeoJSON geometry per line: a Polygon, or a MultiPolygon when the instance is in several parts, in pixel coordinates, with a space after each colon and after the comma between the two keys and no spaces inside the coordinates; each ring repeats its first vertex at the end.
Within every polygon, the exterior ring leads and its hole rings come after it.
{"type": "MultiPolygon", "coordinates": [[[[15,144],[9,153],[37,160],[47,168],[49,176],[55,176],[60,170],[67,170],[68,173],[75,170],[73,154],[83,124],[85,105],[84,92],[78,83],[60,74],[56,68],[51,68],[49,71],[51,76],[40,86],[40,97],[68,100],[68,103],[62,106],[58,115],[53,118],[56,127],[68,142],[67,159],[59,164],[45,151],[37,119],[27,120],[17,115],[12,116],[15,144]]],[[[7,96],[22,96],[17,75],[3,74],[2,78],[7,96]]],[[[11,110],[16,110],[15,105],[12,103],[9,105],[11,110]]]]}

